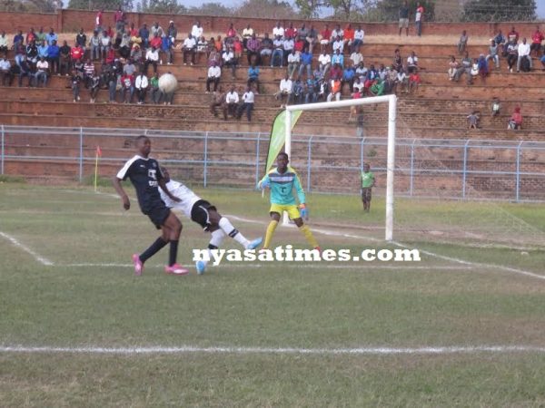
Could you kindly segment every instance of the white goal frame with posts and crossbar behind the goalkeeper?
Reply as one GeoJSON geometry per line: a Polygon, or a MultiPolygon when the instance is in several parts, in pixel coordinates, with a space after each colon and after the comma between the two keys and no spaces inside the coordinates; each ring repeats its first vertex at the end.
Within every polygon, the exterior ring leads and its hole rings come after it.
{"type": "MultiPolygon", "coordinates": [[[[286,106],[285,116],[285,152],[292,159],[292,111],[319,111],[322,109],[345,108],[350,106],[369,105],[388,102],[388,153],[386,160],[386,226],[385,239],[393,239],[393,170],[395,165],[395,122],[397,97],[395,95],[373,96],[371,98],[351,99],[346,101],[320,102],[302,105],[286,106]]],[[[284,214],[283,224],[288,224],[287,214],[284,214]]]]}

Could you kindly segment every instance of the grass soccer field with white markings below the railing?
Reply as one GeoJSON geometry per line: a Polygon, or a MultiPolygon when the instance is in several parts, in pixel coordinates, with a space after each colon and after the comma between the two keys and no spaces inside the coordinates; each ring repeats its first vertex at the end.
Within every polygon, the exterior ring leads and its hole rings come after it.
{"type": "MultiPolygon", "coordinates": [[[[260,193],[197,192],[247,238],[263,236],[260,193]]],[[[402,245],[421,261],[223,262],[198,276],[191,250],[209,236],[181,216],[179,261],[191,274],[165,275],[163,249],[134,277],[131,255],[157,233],[132,202],[124,212],[113,189],[0,184],[0,406],[545,403],[540,245],[424,232],[386,245],[380,199],[366,215],[356,196],[310,195],[322,249],[402,245]]],[[[539,205],[399,200],[396,209],[438,229],[478,219],[486,229],[486,213],[520,220],[511,235],[520,225],[545,231],[539,205]]],[[[306,248],[289,227],[273,243],[306,248]]]]}

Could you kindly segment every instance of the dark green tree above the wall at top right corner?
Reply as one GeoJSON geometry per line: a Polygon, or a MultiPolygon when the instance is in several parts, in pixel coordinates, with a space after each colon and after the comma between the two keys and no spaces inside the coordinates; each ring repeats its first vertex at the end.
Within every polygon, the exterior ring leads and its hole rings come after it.
{"type": "Polygon", "coordinates": [[[532,21],[535,0],[470,0],[464,5],[465,21],[532,21]]]}

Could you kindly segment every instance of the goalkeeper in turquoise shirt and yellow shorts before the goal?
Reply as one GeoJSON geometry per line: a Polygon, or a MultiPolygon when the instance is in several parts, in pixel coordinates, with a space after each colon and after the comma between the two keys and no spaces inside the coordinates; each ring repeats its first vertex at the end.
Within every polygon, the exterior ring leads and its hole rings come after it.
{"type": "Polygon", "coordinates": [[[316,242],[316,238],[312,235],[311,229],[302,223],[302,217],[308,220],[309,213],[305,205],[301,181],[295,170],[293,170],[292,167],[288,167],[289,162],[288,155],[284,152],[280,153],[276,158],[278,167],[269,171],[269,174],[263,177],[257,185],[259,189],[271,189],[270,214],[272,220],[269,223],[269,227],[267,227],[263,249],[269,248],[274,230],[280,221],[280,216],[283,211],[286,211],[290,219],[295,222],[297,228],[302,232],[304,238],[311,244],[311,247],[320,251],[321,249],[318,246],[318,242],[316,242]],[[293,188],[297,191],[297,197],[300,203],[299,209],[297,208],[293,188]]]}

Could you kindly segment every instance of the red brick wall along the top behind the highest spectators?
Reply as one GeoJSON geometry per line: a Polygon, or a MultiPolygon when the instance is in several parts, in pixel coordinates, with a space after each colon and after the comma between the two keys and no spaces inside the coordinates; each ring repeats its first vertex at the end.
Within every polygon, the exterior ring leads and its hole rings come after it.
{"type": "MultiPolygon", "coordinates": [[[[56,14],[39,14],[39,13],[0,13],[0,27],[6,32],[15,30],[23,30],[26,32],[30,27],[38,28],[40,26],[48,29],[53,27],[56,32],[71,33],[83,27],[85,31],[94,29],[95,11],[86,10],[59,10],[56,14]]],[[[249,17],[224,17],[224,16],[209,16],[209,15],[162,15],[148,13],[127,13],[127,22],[134,23],[136,26],[141,26],[146,23],[153,24],[159,22],[163,27],[168,25],[168,22],[173,20],[178,28],[179,34],[183,35],[183,29],[189,30],[196,20],[199,20],[204,27],[204,33],[224,33],[233,23],[235,28],[242,29],[246,24],[251,24],[253,29],[258,33],[265,31],[271,32],[272,27],[276,24],[276,19],[272,18],[249,18],[249,17]]],[[[315,24],[316,29],[322,30],[323,24],[348,24],[346,21],[337,20],[281,20],[285,26],[292,22],[295,26],[300,26],[303,22],[306,24],[315,24]]],[[[104,13],[104,24],[114,25],[114,13],[104,13]]],[[[467,30],[471,35],[490,36],[499,28],[505,32],[514,25],[520,33],[530,33],[535,29],[535,23],[425,23],[424,34],[441,34],[441,35],[460,35],[462,30],[467,30]]],[[[366,34],[396,34],[397,23],[363,23],[362,27],[366,34]]]]}

